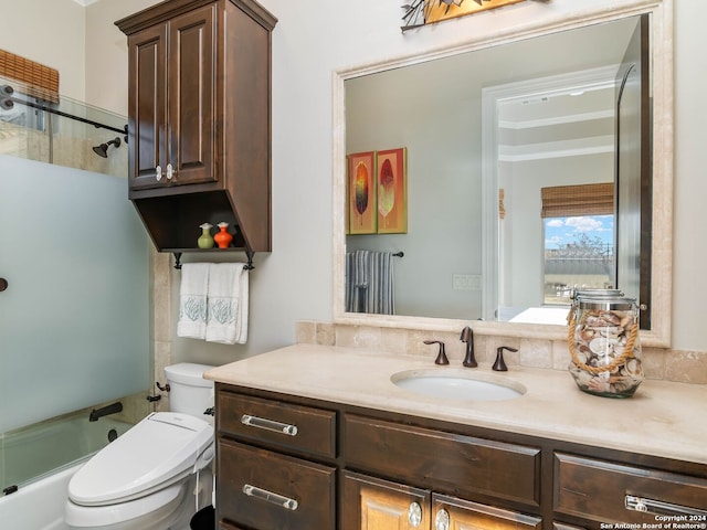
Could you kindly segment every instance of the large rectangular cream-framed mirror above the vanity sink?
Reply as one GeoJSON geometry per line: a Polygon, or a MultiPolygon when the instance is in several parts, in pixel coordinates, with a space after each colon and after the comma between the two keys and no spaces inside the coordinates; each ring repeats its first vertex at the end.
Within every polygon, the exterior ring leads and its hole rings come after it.
{"type": "Polygon", "coordinates": [[[616,211],[614,204],[599,221],[588,211],[584,221],[601,222],[602,230],[566,223],[561,248],[601,246],[605,257],[606,247],[615,246],[615,257],[599,266],[610,274],[591,286],[613,285],[618,266],[619,287],[625,285],[627,295],[646,305],[645,343],[668,346],[671,279],[651,274],[671,264],[666,3],[583,13],[581,21],[550,17],[523,36],[495,35],[493,42],[337,72],[335,321],[454,330],[481,320],[474,324],[481,333],[563,338],[567,288],[587,284],[582,277],[556,285],[555,298],[547,293],[552,280],[546,243],[557,234],[541,214],[544,193],[609,184],[610,201],[629,195],[621,199],[627,205],[616,211]],[[642,67],[651,73],[643,86],[652,130],[622,141],[643,146],[639,150],[651,171],[643,186],[620,188],[614,187],[616,97],[636,32],[646,51],[642,67]],[[347,235],[346,157],[394,148],[407,150],[407,232],[347,235]],[[625,234],[635,236],[626,241],[625,234]],[[346,307],[347,253],[356,250],[402,253],[392,257],[394,314],[346,307]]]}

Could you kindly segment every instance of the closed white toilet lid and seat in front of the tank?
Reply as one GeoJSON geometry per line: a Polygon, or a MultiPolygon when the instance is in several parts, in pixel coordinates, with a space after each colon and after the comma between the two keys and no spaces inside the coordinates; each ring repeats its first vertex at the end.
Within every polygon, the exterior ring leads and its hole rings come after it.
{"type": "Polygon", "coordinates": [[[210,460],[212,446],[208,422],[176,412],[150,414],[76,471],[68,497],[84,506],[141,497],[189,475],[204,457],[210,460]],[[209,454],[202,455],[204,449],[209,454]]]}

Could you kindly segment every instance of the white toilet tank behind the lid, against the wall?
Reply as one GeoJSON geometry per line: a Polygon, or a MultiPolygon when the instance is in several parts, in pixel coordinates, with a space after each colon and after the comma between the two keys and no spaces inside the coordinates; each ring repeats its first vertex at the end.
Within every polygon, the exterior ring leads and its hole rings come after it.
{"type": "Polygon", "coordinates": [[[165,374],[169,383],[169,410],[181,412],[201,420],[209,420],[204,411],[213,406],[213,381],[202,378],[203,373],[213,367],[181,362],[165,367],[165,374]]]}

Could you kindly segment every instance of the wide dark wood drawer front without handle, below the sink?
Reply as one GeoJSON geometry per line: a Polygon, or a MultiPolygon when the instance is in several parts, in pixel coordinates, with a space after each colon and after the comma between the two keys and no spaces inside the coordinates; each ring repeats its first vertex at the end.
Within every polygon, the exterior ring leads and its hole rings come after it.
{"type": "Polygon", "coordinates": [[[460,496],[540,504],[540,449],[346,414],[347,465],[460,496]],[[391,448],[401,448],[391,451],[391,448]],[[381,455],[384,457],[381,458],[381,455]]]}

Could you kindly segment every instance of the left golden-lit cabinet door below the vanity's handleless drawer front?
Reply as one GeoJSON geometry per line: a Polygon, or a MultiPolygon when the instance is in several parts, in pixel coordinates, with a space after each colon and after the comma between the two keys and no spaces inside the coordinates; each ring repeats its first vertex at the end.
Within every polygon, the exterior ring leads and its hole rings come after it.
{"type": "Polygon", "coordinates": [[[430,491],[346,471],[340,504],[342,530],[430,528],[430,491]]]}

